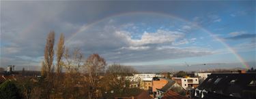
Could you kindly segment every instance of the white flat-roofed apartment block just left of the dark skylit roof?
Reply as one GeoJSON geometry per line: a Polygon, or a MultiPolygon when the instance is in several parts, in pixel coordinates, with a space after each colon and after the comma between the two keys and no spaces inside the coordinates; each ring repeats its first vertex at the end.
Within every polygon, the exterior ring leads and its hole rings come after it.
{"type": "Polygon", "coordinates": [[[197,87],[199,85],[199,79],[198,78],[192,78],[192,77],[173,77],[173,81],[176,81],[179,85],[181,85],[185,90],[193,89],[194,87],[197,87]]]}

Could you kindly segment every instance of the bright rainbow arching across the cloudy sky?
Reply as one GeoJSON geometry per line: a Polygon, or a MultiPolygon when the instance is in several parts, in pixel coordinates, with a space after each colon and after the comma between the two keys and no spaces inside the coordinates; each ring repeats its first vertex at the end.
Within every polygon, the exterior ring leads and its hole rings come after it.
{"type": "Polygon", "coordinates": [[[214,39],[216,39],[218,42],[220,42],[222,45],[224,45],[227,50],[229,50],[229,52],[231,52],[234,56],[236,56],[236,58],[242,63],[242,65],[246,68],[249,69],[250,66],[244,61],[244,59],[240,56],[240,54],[238,54],[236,52],[236,50],[233,50],[232,47],[230,47],[227,43],[225,43],[225,41],[223,41],[223,39],[218,38],[216,35],[214,35],[213,33],[211,33],[210,31],[208,31],[207,29],[203,28],[202,26],[199,26],[198,24],[196,24],[195,22],[190,22],[188,20],[185,20],[183,18],[177,17],[177,16],[173,16],[170,14],[164,14],[164,13],[160,13],[160,12],[126,12],[126,13],[121,13],[121,14],[114,14],[111,16],[107,16],[105,18],[102,18],[100,20],[97,20],[95,22],[91,22],[90,24],[86,24],[84,26],[81,26],[81,28],[79,28],[78,31],[76,31],[75,33],[73,33],[73,35],[71,35],[67,41],[66,44],[70,42],[71,39],[73,39],[74,37],[76,37],[77,34],[82,33],[83,31],[86,31],[88,28],[90,28],[91,26],[94,26],[95,24],[98,24],[100,22],[103,22],[104,20],[108,20],[114,17],[119,17],[119,16],[128,16],[128,15],[132,15],[132,14],[154,14],[154,15],[158,15],[158,16],[164,16],[167,18],[173,18],[175,20],[180,20],[182,22],[187,22],[188,24],[193,24],[193,26],[200,28],[203,32],[208,33],[210,36],[212,36],[214,39]]]}

